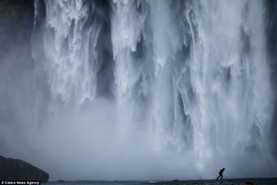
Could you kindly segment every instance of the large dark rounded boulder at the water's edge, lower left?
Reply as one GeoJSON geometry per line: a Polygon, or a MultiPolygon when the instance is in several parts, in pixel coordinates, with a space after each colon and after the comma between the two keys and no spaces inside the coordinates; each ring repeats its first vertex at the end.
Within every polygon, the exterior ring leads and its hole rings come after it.
{"type": "Polygon", "coordinates": [[[49,174],[23,160],[5,158],[0,155],[0,179],[47,182],[49,174]]]}

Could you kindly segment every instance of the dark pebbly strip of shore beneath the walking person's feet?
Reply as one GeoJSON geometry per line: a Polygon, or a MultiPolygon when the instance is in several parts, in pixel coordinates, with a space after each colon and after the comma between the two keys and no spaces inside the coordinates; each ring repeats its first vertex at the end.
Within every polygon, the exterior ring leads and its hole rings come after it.
{"type": "Polygon", "coordinates": [[[165,181],[153,182],[149,185],[277,185],[277,178],[245,178],[245,179],[210,179],[191,181],[165,181]]]}

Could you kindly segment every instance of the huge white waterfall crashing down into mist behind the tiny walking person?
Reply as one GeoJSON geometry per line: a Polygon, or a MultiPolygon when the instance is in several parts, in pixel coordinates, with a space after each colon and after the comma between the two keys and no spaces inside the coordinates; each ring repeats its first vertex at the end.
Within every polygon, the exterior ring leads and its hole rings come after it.
{"type": "Polygon", "coordinates": [[[31,114],[45,116],[28,141],[50,179],[276,175],[263,13],[262,1],[36,0],[44,106],[31,114]]]}

